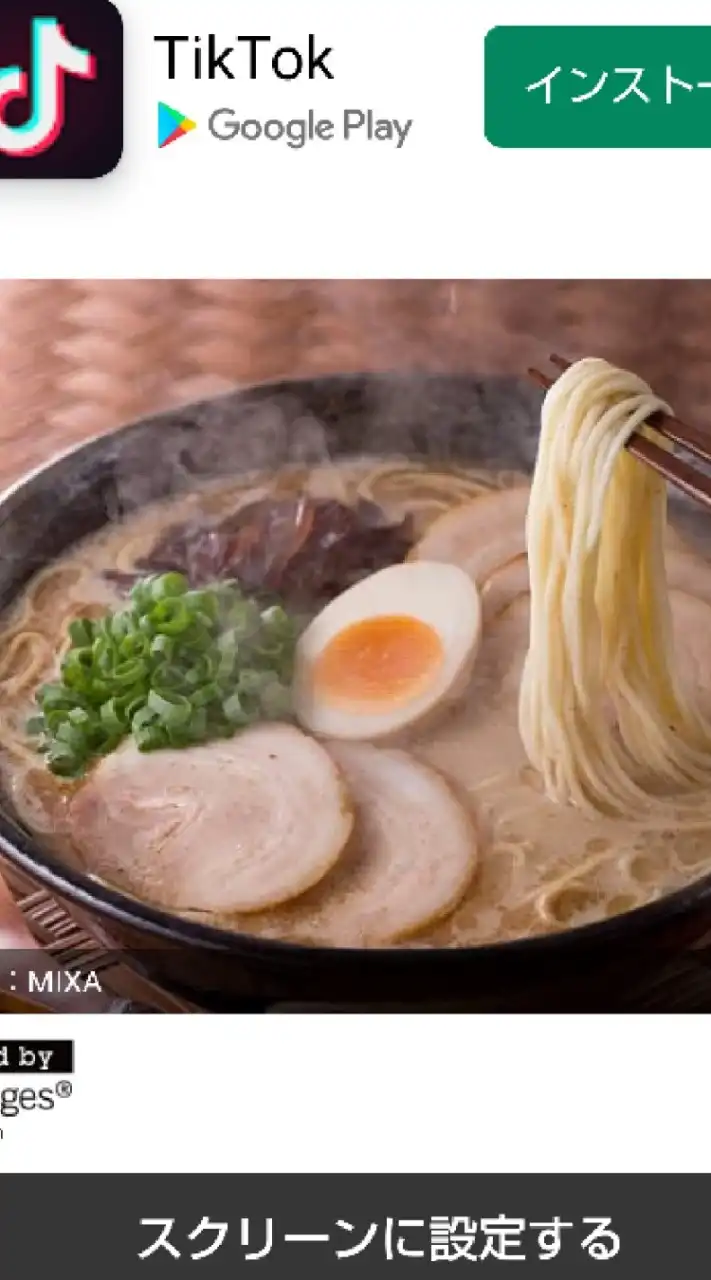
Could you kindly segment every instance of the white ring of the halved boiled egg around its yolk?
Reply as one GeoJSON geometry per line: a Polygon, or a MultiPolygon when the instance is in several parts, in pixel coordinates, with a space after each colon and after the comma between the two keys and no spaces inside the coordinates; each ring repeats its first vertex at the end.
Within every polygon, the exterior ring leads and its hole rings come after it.
{"type": "Polygon", "coordinates": [[[393,564],[343,591],[304,631],[296,650],[293,708],[313,733],[375,740],[411,727],[450,703],[469,684],[482,639],[479,593],[456,564],[414,561],[393,564]],[[314,684],[314,667],[331,641],[357,622],[410,617],[438,635],[442,659],[427,686],[397,705],[331,703],[314,684]]]}

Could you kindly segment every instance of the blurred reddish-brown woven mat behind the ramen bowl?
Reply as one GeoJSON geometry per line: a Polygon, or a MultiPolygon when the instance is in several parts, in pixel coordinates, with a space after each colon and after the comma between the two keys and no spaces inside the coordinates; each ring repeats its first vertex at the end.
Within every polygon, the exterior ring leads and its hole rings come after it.
{"type": "Polygon", "coordinates": [[[706,280],[0,282],[0,486],[91,435],[240,383],[523,372],[603,355],[711,422],[706,280]]]}

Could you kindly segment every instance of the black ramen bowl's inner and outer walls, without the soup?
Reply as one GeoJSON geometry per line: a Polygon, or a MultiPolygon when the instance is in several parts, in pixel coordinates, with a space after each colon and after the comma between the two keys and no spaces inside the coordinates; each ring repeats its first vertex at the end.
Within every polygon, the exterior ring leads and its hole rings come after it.
{"type": "MultiPolygon", "coordinates": [[[[530,471],[539,408],[541,393],[515,379],[363,374],[260,385],[132,424],[0,498],[0,608],[106,521],[204,479],[363,453],[530,471]]],[[[676,515],[711,543],[703,516],[684,506],[676,515]]],[[[461,950],[346,950],[265,941],[137,902],[61,865],[1,796],[0,860],[126,963],[202,1009],[623,1011],[689,1000],[711,1009],[711,877],[551,936],[461,950]]]]}

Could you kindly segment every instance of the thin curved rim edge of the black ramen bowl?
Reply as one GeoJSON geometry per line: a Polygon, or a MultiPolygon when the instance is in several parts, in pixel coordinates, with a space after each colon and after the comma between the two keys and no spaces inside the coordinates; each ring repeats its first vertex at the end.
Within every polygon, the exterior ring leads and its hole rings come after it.
{"type": "MultiPolygon", "coordinates": [[[[275,378],[265,381],[246,383],[243,385],[234,387],[231,390],[222,392],[218,396],[191,401],[184,404],[170,406],[169,408],[155,413],[146,413],[140,419],[132,419],[128,422],[123,422],[109,431],[102,431],[90,436],[88,439],[70,444],[67,449],[58,451],[38,466],[24,472],[17,480],[13,480],[0,492],[0,515],[3,508],[10,503],[13,498],[20,495],[22,492],[35,480],[45,479],[67,458],[77,454],[90,454],[91,451],[101,442],[115,440],[119,436],[129,435],[131,431],[145,428],[149,424],[159,424],[174,417],[176,415],[182,416],[208,406],[218,404],[220,401],[247,398],[250,394],[264,394],[270,390],[273,390],[274,394],[283,394],[287,388],[295,389],[298,385],[313,387],[316,383],[354,383],[356,380],[366,383],[373,380],[384,381],[395,378],[416,378],[421,381],[468,381],[477,379],[477,376],[486,376],[487,380],[491,380],[492,383],[520,381],[523,384],[525,381],[524,379],[516,379],[515,375],[477,375],[464,370],[454,371],[451,374],[437,371],[427,372],[420,370],[354,370],[323,375],[316,374],[313,376],[275,378]]],[[[642,906],[634,908],[632,911],[624,911],[616,916],[594,920],[588,924],[576,925],[575,928],[559,929],[552,933],[532,934],[511,938],[509,941],[483,942],[477,946],[468,947],[419,947],[416,946],[416,937],[413,938],[413,942],[415,943],[414,946],[407,946],[406,943],[398,943],[389,947],[323,946],[290,942],[282,938],[264,938],[259,934],[224,929],[219,925],[205,924],[200,920],[193,920],[163,910],[161,908],[152,906],[151,904],[135,899],[128,893],[123,893],[120,890],[113,888],[101,881],[95,881],[81,870],[65,865],[49,850],[42,849],[36,837],[8,819],[3,812],[0,812],[0,852],[9,863],[17,865],[22,872],[24,872],[29,879],[38,881],[44,887],[55,892],[59,897],[76,902],[90,914],[94,913],[106,916],[110,920],[115,920],[120,924],[128,925],[129,928],[137,929],[140,933],[146,933],[152,938],[163,938],[168,943],[181,946],[188,945],[193,947],[197,945],[204,950],[222,954],[249,951],[255,955],[255,957],[261,952],[265,956],[275,957],[277,955],[281,955],[284,959],[288,959],[290,956],[298,957],[301,960],[313,959],[316,961],[319,959],[328,959],[336,963],[339,960],[346,961],[350,959],[352,961],[357,959],[361,963],[378,964],[388,961],[391,964],[397,963],[402,965],[416,963],[428,963],[430,965],[454,965],[460,963],[464,957],[473,956],[482,961],[486,961],[487,959],[494,961],[500,957],[515,955],[525,957],[556,954],[561,948],[579,948],[585,943],[594,946],[605,942],[632,942],[634,934],[646,932],[653,928],[655,924],[667,924],[671,919],[685,916],[692,909],[698,910],[698,908],[711,904],[711,872],[708,872],[706,876],[675,890],[673,893],[666,893],[658,899],[653,899],[642,906]]]]}

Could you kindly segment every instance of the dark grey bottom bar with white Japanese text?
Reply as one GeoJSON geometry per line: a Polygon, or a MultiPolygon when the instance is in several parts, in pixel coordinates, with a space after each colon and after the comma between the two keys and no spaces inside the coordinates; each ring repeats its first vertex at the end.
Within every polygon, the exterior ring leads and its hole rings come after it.
{"type": "Polygon", "coordinates": [[[193,1263],[266,1280],[437,1262],[691,1276],[710,1194],[706,1174],[1,1174],[0,1239],[18,1275],[67,1263],[74,1280],[193,1263]]]}

